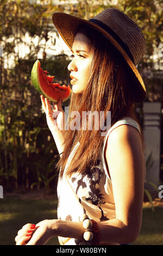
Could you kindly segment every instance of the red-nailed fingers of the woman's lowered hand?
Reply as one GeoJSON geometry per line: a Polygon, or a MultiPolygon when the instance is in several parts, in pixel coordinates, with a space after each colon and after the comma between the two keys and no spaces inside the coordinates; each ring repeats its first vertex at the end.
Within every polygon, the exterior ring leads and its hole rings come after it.
{"type": "Polygon", "coordinates": [[[18,230],[17,236],[15,237],[16,245],[26,245],[33,236],[35,229],[35,224],[28,223],[22,229],[18,230]]]}

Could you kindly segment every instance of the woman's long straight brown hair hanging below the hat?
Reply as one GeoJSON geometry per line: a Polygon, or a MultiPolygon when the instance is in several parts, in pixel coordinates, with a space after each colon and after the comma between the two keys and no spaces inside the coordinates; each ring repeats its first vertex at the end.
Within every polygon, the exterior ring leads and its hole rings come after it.
{"type": "MultiPolygon", "coordinates": [[[[131,117],[139,124],[134,111],[131,90],[134,79],[126,61],[102,34],[87,26],[78,28],[78,32],[84,33],[91,40],[93,59],[83,94],[72,93],[71,95],[69,113],[78,111],[81,124],[83,111],[91,111],[91,113],[111,111],[111,126],[123,117],[131,117]]],[[[80,174],[89,172],[90,167],[96,164],[104,140],[101,129],[69,129],[65,131],[65,135],[64,151],[57,164],[60,169],[60,178],[64,173],[68,156],[78,142],[80,145],[66,170],[66,175],[70,178],[74,172],[80,174]]]]}

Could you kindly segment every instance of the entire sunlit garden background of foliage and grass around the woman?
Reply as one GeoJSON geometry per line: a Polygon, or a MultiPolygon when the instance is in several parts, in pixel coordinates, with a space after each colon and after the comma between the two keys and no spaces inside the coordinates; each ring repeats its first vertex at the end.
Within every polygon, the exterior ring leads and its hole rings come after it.
{"type": "MultiPolygon", "coordinates": [[[[110,7],[122,10],[133,19],[141,27],[147,41],[146,54],[137,65],[147,88],[147,97],[143,103],[135,105],[135,111],[146,139],[147,175],[144,201],[145,204],[149,202],[150,209],[144,210],[143,216],[146,218],[143,218],[142,233],[137,243],[163,243],[163,236],[159,230],[162,225],[159,219],[162,214],[162,198],[158,197],[158,188],[163,182],[162,1],[2,0],[0,4],[0,205],[2,205],[0,225],[2,224],[6,236],[0,234],[0,244],[14,244],[13,237],[18,225],[21,226],[26,221],[23,218],[24,212],[26,218],[29,217],[31,221],[38,222],[38,218],[40,220],[41,217],[31,215],[30,204],[32,209],[36,205],[36,208],[42,211],[42,217],[52,218],[53,214],[56,217],[58,173],[55,165],[58,161],[58,151],[41,108],[40,96],[30,81],[32,66],[35,60],[39,59],[42,68],[55,76],[55,82],[70,84],[67,70],[70,50],[57,33],[52,15],[60,11],[89,20],[110,7]],[[41,201],[34,203],[30,202],[30,199],[49,200],[47,201],[49,208],[45,201],[41,205],[41,201]],[[159,207],[156,208],[158,202],[159,207]],[[48,213],[45,212],[45,205],[49,209],[48,213]],[[151,240],[152,230],[149,229],[152,220],[154,220],[151,225],[155,240],[151,240]],[[9,231],[10,236],[7,235],[9,231]]],[[[63,104],[63,108],[65,106],[68,106],[68,101],[63,104]]],[[[57,244],[57,240],[52,242],[54,243],[57,244]]]]}

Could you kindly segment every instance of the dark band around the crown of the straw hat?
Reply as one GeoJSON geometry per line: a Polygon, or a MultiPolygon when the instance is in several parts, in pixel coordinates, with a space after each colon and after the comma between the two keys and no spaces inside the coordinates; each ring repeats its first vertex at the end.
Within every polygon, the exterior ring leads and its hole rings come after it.
{"type": "Polygon", "coordinates": [[[123,48],[124,51],[128,54],[132,62],[134,63],[133,56],[129,50],[129,47],[122,41],[120,36],[118,36],[109,26],[105,25],[103,22],[95,19],[90,19],[90,22],[98,25],[99,27],[103,28],[106,32],[108,32],[117,42],[120,44],[120,46],[123,48]]]}

